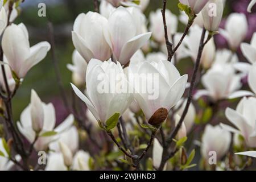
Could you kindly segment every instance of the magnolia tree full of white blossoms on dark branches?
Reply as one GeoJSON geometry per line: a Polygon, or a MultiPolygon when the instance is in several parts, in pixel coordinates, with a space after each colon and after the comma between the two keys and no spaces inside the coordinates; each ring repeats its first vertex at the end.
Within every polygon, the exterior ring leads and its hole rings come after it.
{"type": "Polygon", "coordinates": [[[253,169],[256,32],[245,43],[245,14],[219,28],[224,0],[180,0],[179,18],[167,0],[149,16],[149,0],[94,0],[95,11],[77,15],[70,32],[69,98],[52,24],[49,43],[31,46],[26,25],[14,23],[20,3],[0,5],[0,170],[253,169]],[[220,34],[228,48],[218,47],[220,34]],[[56,126],[55,107],[30,88],[14,121],[15,93],[50,50],[68,117],[56,126]]]}

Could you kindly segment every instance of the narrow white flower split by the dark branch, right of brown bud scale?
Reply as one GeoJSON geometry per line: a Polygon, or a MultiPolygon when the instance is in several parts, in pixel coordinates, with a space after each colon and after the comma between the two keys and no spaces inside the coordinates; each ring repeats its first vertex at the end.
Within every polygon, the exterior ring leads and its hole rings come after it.
{"type": "MultiPolygon", "coordinates": [[[[174,109],[179,109],[179,110],[177,110],[178,115],[182,115],[186,104],[187,104],[187,100],[184,98],[179,100],[179,102],[177,102],[174,109]]],[[[189,131],[191,131],[192,126],[195,123],[195,118],[196,118],[196,109],[195,109],[195,106],[193,105],[193,103],[191,103],[188,107],[188,113],[186,114],[186,116],[184,118],[184,124],[185,124],[185,128],[187,130],[187,133],[189,133],[189,131]]]]}

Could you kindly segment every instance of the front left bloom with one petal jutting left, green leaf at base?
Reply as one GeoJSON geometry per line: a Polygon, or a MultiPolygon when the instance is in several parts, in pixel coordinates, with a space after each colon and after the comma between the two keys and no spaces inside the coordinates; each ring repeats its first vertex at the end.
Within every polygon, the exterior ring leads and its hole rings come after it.
{"type": "Polygon", "coordinates": [[[87,97],[75,85],[71,85],[97,121],[106,122],[115,113],[121,117],[133,101],[133,94],[122,90],[128,84],[118,61],[90,60],[86,70],[87,97]]]}

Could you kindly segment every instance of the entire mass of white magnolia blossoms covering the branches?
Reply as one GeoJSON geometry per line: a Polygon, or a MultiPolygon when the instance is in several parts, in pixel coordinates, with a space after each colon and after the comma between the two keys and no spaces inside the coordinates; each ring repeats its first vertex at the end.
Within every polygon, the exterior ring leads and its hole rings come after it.
{"type": "MultiPolygon", "coordinates": [[[[183,11],[176,16],[167,9],[164,27],[160,9],[151,12],[147,22],[143,10],[148,2],[141,0],[138,5],[136,1],[102,0],[100,13],[89,11],[77,16],[72,31],[75,46],[73,64],[68,64],[67,68],[72,71],[73,91],[88,108],[86,118],[92,122],[94,129],[101,127],[108,134],[117,125],[113,124],[113,118],[117,121],[119,118],[123,119],[128,130],[134,130],[137,122],[144,122],[148,127],[158,129],[170,118],[175,125],[179,125],[188,100],[183,95],[191,84],[188,82],[188,75],[181,76],[176,64],[187,57],[196,63],[201,32],[207,30],[207,39],[219,31],[227,40],[229,49],[217,49],[214,39],[205,44],[200,58],[200,81],[203,89],[193,93],[193,100],[200,102],[206,96],[211,102],[218,104],[224,100],[243,98],[236,110],[229,107],[225,109],[225,117],[236,128],[221,121],[215,126],[207,124],[201,142],[196,143],[201,147],[201,155],[206,160],[210,152],[214,151],[217,154],[216,160],[221,162],[228,153],[232,140],[234,146],[240,149],[237,150],[241,152],[238,154],[256,157],[255,151],[242,152],[256,148],[256,33],[250,44],[243,43],[248,30],[246,16],[240,13],[230,14],[225,28],[219,29],[225,1],[180,0],[179,7],[183,11]],[[212,3],[217,9],[210,16],[212,3]],[[188,34],[184,38],[184,34],[177,32],[179,22],[193,23],[188,27],[188,34]],[[169,61],[167,39],[178,47],[175,56],[169,61]],[[248,63],[239,61],[236,55],[238,48],[241,48],[248,63]],[[152,49],[159,52],[152,52],[152,49]],[[132,81],[135,75],[156,77],[145,76],[132,81]],[[102,79],[99,77],[104,80],[103,85],[107,85],[113,92],[99,91],[102,86],[102,79]],[[250,91],[240,90],[243,86],[241,80],[245,77],[250,91]],[[143,92],[141,88],[145,83],[146,86],[151,86],[148,92],[143,92]],[[124,92],[123,87],[133,88],[135,92],[124,92]],[[82,90],[84,88],[86,89],[82,90]],[[152,98],[152,93],[155,92],[157,96],[152,98]],[[140,121],[136,121],[136,115],[139,115],[140,121]],[[231,133],[234,134],[233,137],[231,133]]],[[[6,84],[1,69],[0,84],[3,91],[15,92],[17,84],[22,82],[35,64],[44,59],[51,45],[40,42],[30,47],[26,26],[23,23],[9,23],[13,22],[17,13],[14,8],[11,20],[8,20],[8,3],[9,1],[5,2],[0,11],[0,32],[3,34],[1,65],[5,68],[7,77],[6,84]]],[[[251,1],[249,11],[254,3],[255,1],[251,1]]],[[[196,106],[191,103],[175,136],[178,142],[193,132],[197,117],[196,106]]],[[[41,101],[32,89],[30,104],[20,114],[20,121],[16,125],[35,151],[47,152],[46,170],[89,170],[91,156],[89,152],[79,148],[79,130],[74,121],[75,116],[70,114],[60,125],[55,126],[55,108],[51,103],[41,101]]],[[[14,161],[22,159],[17,154],[10,162],[5,139],[1,140],[0,169],[10,169],[14,161]]],[[[163,142],[161,144],[159,139],[154,138],[152,165],[155,169],[162,165],[163,145],[163,142]]],[[[240,158],[236,160],[241,163],[240,158]]],[[[164,169],[172,167],[166,164],[164,169]]]]}

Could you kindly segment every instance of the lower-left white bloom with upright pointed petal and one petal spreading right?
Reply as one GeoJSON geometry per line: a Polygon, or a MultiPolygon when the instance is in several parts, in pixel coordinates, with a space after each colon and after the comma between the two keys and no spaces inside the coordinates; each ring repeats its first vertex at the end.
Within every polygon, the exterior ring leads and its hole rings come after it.
{"type": "Polygon", "coordinates": [[[40,151],[47,150],[49,143],[56,140],[63,131],[69,129],[73,121],[73,115],[69,115],[65,121],[54,128],[56,118],[53,105],[42,102],[35,91],[32,90],[31,103],[22,111],[17,126],[20,133],[30,143],[33,143],[36,135],[38,135],[34,148],[36,151],[40,151]]]}

